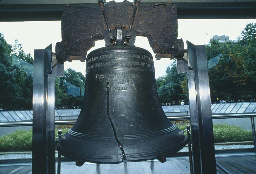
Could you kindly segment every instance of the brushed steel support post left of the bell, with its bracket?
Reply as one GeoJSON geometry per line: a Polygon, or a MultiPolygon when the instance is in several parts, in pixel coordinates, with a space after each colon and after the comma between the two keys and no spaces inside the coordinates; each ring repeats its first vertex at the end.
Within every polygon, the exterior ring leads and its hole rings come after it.
{"type": "Polygon", "coordinates": [[[55,173],[55,76],[64,76],[64,64],[56,61],[52,44],[34,50],[33,173],[55,173]]]}

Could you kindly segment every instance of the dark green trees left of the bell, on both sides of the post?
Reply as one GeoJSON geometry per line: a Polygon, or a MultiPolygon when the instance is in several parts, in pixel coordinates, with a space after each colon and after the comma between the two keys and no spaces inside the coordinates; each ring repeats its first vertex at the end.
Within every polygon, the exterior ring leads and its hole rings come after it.
{"type": "MultiPolygon", "coordinates": [[[[0,33],[0,108],[4,110],[31,110],[33,94],[33,58],[25,54],[22,44],[15,40],[7,44],[0,33]],[[21,64],[23,63],[23,64],[21,64]],[[29,71],[30,70],[30,71],[29,71]]],[[[65,78],[55,79],[55,105],[57,108],[81,107],[85,88],[85,77],[71,68],[65,78]],[[80,96],[67,95],[69,82],[80,88],[80,96]]]]}

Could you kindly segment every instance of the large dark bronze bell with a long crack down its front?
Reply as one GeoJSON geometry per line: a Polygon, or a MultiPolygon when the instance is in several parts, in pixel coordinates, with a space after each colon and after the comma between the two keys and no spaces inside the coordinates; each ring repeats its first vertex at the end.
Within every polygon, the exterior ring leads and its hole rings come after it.
{"type": "Polygon", "coordinates": [[[152,55],[126,45],[123,32],[118,26],[115,44],[87,55],[84,103],[57,146],[79,166],[164,158],[187,142],[161,107],[152,55]]]}

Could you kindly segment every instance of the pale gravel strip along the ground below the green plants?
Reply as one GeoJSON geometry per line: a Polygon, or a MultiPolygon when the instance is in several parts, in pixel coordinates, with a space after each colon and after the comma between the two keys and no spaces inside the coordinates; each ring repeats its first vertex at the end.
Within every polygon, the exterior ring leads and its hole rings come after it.
{"type": "MultiPolygon", "coordinates": [[[[215,150],[222,149],[245,149],[245,148],[254,148],[253,145],[215,145],[215,150]]],[[[179,152],[188,152],[188,147],[184,147],[179,152]]],[[[58,157],[58,153],[55,153],[55,156],[58,157]]],[[[7,159],[31,159],[32,153],[10,153],[0,155],[0,160],[7,159]]]]}

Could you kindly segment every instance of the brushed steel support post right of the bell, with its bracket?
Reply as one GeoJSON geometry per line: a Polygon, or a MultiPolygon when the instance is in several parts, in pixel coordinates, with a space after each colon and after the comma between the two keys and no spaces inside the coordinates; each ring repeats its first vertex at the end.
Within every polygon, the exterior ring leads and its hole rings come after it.
{"type": "Polygon", "coordinates": [[[177,60],[177,72],[187,73],[193,171],[216,173],[213,122],[205,46],[187,41],[188,60],[177,60]]]}

